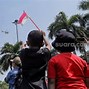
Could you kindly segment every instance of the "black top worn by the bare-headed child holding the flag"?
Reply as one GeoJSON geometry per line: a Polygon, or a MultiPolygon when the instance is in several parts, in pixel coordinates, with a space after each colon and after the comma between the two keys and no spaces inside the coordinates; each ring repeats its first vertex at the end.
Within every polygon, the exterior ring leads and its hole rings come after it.
{"type": "Polygon", "coordinates": [[[44,66],[49,61],[50,57],[50,52],[47,48],[23,49],[20,53],[23,78],[34,82],[44,77],[46,66],[37,73],[34,74],[34,72],[44,66]]]}

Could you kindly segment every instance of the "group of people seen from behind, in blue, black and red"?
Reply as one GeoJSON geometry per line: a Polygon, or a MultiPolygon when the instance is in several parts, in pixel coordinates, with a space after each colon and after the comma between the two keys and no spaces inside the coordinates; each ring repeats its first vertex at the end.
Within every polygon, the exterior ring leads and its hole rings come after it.
{"type": "Polygon", "coordinates": [[[25,47],[22,45],[18,57],[11,60],[13,69],[5,77],[9,89],[88,89],[89,67],[73,53],[75,45],[71,32],[59,30],[52,42],[58,53],[51,56],[51,44],[45,32],[29,32],[25,47]],[[22,75],[22,80],[16,86],[18,74],[22,75]]]}

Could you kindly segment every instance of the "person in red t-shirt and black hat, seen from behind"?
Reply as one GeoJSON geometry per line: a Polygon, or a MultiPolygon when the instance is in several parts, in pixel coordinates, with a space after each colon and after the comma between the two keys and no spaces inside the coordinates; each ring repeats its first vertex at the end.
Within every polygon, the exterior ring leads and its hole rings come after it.
{"type": "Polygon", "coordinates": [[[89,77],[87,63],[72,53],[75,50],[74,35],[60,30],[52,46],[60,54],[49,60],[48,89],[87,89],[85,84],[85,76],[89,77]]]}

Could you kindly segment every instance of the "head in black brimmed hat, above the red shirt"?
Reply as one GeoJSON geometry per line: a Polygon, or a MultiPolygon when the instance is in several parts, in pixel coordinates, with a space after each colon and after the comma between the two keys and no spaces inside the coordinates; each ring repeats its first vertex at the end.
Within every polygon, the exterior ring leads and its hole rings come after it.
{"type": "Polygon", "coordinates": [[[59,30],[52,46],[60,52],[72,52],[75,50],[75,36],[66,30],[59,30]]]}

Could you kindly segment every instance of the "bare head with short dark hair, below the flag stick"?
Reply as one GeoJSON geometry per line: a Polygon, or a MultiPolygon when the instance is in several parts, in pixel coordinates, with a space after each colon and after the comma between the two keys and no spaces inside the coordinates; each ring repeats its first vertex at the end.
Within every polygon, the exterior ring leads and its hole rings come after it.
{"type": "Polygon", "coordinates": [[[43,45],[43,34],[38,30],[33,30],[27,37],[28,45],[41,47],[43,45]]]}

